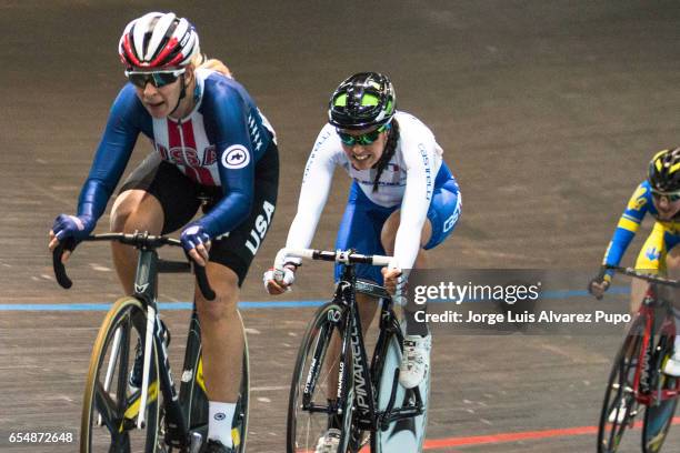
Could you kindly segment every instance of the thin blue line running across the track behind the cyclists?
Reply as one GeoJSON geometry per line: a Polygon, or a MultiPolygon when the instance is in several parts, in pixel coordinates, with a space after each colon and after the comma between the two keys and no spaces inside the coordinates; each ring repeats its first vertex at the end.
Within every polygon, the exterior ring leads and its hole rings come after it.
{"type": "MultiPolygon", "coordinates": [[[[612,286],[610,294],[629,294],[629,286],[612,286]]],[[[558,290],[541,293],[541,299],[570,299],[583,298],[588,295],[586,290],[558,290]]],[[[261,309],[303,309],[309,306],[320,306],[324,301],[267,301],[267,302],[239,302],[241,310],[261,309]]],[[[441,303],[447,301],[430,301],[441,303]]],[[[190,302],[161,302],[161,311],[166,310],[191,310],[190,302]]],[[[0,311],[108,311],[110,303],[0,303],[0,311]]]]}

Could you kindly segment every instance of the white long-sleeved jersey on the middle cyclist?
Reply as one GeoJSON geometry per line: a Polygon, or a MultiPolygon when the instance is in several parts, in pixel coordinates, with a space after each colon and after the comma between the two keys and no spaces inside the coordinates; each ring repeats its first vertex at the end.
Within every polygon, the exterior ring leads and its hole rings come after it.
{"type": "Polygon", "coordinates": [[[442,149],[432,131],[416,117],[398,111],[394,119],[399,122],[399,141],[374,192],[376,170],[354,169],[342,150],[336,128],[327,124],[321,129],[304,168],[298,213],[288,232],[287,248],[309,248],[328,199],[333,171],[340,165],[373,203],[384,208],[401,204],[394,256],[401,269],[413,266],[434,179],[442,163],[442,149]]]}

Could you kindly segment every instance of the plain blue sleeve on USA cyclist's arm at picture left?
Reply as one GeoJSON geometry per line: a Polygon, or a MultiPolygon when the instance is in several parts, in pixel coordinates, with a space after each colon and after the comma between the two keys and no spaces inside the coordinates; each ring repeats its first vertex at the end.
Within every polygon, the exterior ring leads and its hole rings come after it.
{"type": "Polygon", "coordinates": [[[94,160],[78,199],[78,215],[99,219],[122,177],[140,132],[144,108],[126,85],[109,112],[107,125],[94,153],[94,160]]]}

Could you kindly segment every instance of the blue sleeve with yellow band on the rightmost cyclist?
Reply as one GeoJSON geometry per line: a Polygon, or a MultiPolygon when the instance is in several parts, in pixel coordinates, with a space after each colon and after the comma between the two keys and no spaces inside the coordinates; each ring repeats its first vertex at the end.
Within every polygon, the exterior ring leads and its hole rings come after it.
{"type": "MultiPolygon", "coordinates": [[[[626,249],[633,240],[644,214],[651,203],[651,190],[647,181],[640,183],[628,201],[626,211],[621,214],[609,246],[604,252],[602,265],[619,265],[626,249]]],[[[611,272],[609,273],[611,275],[611,272]]]]}

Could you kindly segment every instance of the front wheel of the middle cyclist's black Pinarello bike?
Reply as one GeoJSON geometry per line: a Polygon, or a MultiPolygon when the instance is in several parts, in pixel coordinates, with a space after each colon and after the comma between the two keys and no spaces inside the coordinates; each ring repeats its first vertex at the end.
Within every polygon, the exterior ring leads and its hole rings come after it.
{"type": "Polygon", "coordinates": [[[338,339],[344,336],[344,308],[328,303],[317,311],[307,328],[298,352],[288,401],[288,453],[313,452],[318,440],[331,424],[342,431],[338,453],[347,452],[353,407],[351,353],[348,351],[350,360],[346,361],[347,366],[340,378],[343,381],[340,416],[331,415],[337,409],[333,402],[338,401],[339,354],[327,354],[333,335],[338,339]],[[333,416],[336,420],[332,420],[333,416]]]}

